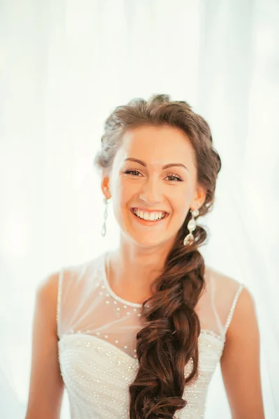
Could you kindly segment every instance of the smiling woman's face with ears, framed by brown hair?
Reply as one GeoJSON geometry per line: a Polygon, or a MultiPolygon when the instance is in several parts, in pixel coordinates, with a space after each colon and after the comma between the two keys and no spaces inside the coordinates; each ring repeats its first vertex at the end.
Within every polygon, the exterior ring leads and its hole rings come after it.
{"type": "Polygon", "coordinates": [[[126,240],[144,248],[174,240],[190,207],[205,198],[190,140],[171,126],[126,132],[104,185],[126,240]]]}

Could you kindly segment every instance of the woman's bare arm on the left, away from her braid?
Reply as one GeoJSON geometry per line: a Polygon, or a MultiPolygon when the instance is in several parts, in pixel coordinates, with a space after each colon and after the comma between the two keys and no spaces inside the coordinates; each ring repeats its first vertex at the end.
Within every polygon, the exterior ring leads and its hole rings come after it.
{"type": "Polygon", "coordinates": [[[58,274],[37,290],[26,419],[58,419],[63,396],[56,336],[58,274]]]}

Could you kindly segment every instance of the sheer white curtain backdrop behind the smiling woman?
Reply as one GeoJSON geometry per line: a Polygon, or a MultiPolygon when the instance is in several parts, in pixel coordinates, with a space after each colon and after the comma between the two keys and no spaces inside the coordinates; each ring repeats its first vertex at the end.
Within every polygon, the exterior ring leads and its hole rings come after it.
{"type": "MultiPolygon", "coordinates": [[[[278,17],[276,0],[2,0],[3,417],[24,417],[38,282],[117,242],[111,212],[100,236],[92,170],[104,119],[153,93],[188,101],[211,125],[223,168],[202,251],[255,297],[266,418],[279,417],[278,17]]],[[[219,368],[206,418],[229,417],[219,368]]]]}

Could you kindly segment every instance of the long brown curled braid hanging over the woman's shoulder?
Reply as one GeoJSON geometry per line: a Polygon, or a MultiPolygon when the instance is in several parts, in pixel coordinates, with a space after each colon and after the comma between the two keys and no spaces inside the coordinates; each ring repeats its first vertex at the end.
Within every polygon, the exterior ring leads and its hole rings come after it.
{"type": "MultiPolygon", "coordinates": [[[[188,219],[183,226],[187,223],[188,219]]],[[[195,305],[204,289],[204,259],[196,248],[205,237],[204,228],[197,226],[190,249],[180,244],[181,237],[176,240],[163,274],[154,281],[155,292],[143,304],[146,324],[137,333],[140,369],[130,385],[135,403],[130,406],[131,419],[173,418],[186,405],[184,387],[197,376],[199,361],[200,324],[195,305]],[[193,369],[185,377],[190,360],[193,369]]]]}

